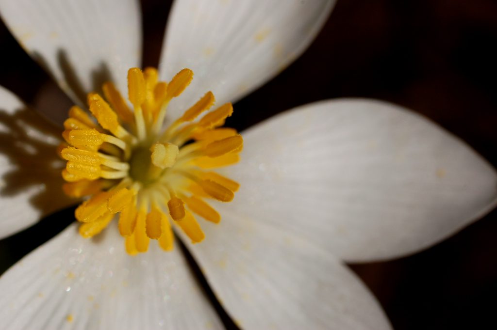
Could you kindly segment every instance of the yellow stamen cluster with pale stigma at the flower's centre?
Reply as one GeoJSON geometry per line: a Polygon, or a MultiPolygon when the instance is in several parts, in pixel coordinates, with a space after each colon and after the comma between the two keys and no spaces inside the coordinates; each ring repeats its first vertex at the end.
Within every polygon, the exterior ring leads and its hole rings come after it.
{"type": "Polygon", "coordinates": [[[213,169],[239,161],[243,139],[222,128],[233,113],[231,103],[212,110],[209,91],[184,114],[166,123],[167,105],[190,84],[193,72],[182,69],[169,82],[155,68],[128,71],[128,101],[116,87],[103,85],[103,97],[87,96],[89,113],[69,110],[59,155],[67,161],[64,192],[85,198],[76,208],[80,234],[93,237],[115,218],[126,251],[136,255],[157,240],[173,249],[177,226],[193,243],[205,235],[196,217],[219,223],[209,199],[229,202],[239,184],[213,169]],[[131,105],[131,107],[130,107],[131,105]]]}

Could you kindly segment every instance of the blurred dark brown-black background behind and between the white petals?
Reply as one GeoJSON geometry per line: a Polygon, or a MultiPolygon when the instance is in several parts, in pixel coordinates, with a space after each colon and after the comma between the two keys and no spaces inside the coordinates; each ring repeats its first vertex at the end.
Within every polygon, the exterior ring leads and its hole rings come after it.
{"type": "MultiPolygon", "coordinates": [[[[144,66],[157,66],[170,2],[142,2],[144,66]]],[[[243,130],[305,103],[371,97],[429,117],[496,167],[496,45],[496,0],[338,0],[307,52],[238,102],[227,125],[243,130]]],[[[31,105],[46,102],[40,91],[57,92],[3,24],[0,49],[1,85],[31,105]]],[[[71,104],[54,95],[57,106],[71,104]]],[[[73,211],[1,240],[0,272],[61,231],[74,219],[73,211]]],[[[494,211],[411,257],[350,266],[396,330],[493,328],[496,218],[494,211]]]]}

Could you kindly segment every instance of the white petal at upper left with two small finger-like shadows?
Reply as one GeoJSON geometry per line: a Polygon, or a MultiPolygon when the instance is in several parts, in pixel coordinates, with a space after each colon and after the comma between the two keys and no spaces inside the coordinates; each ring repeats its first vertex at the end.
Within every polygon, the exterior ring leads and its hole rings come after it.
{"type": "Polygon", "coordinates": [[[136,0],[0,0],[20,45],[76,103],[112,79],[126,92],[128,68],[141,60],[136,0]]]}

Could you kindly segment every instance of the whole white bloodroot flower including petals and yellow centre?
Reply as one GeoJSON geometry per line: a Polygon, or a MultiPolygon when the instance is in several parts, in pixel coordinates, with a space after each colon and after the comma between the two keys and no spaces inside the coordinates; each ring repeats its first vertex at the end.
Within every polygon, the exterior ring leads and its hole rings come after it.
{"type": "Polygon", "coordinates": [[[390,329],[344,263],[453,234],[496,205],[497,175],[381,101],[304,105],[243,139],[221,127],[230,102],[306,49],[333,2],[175,1],[159,69],[142,72],[136,1],[0,0],[77,104],[52,133],[0,89],[0,236],[80,204],[80,223],[0,278],[0,328],[222,329],[174,230],[242,329],[390,329]]]}

